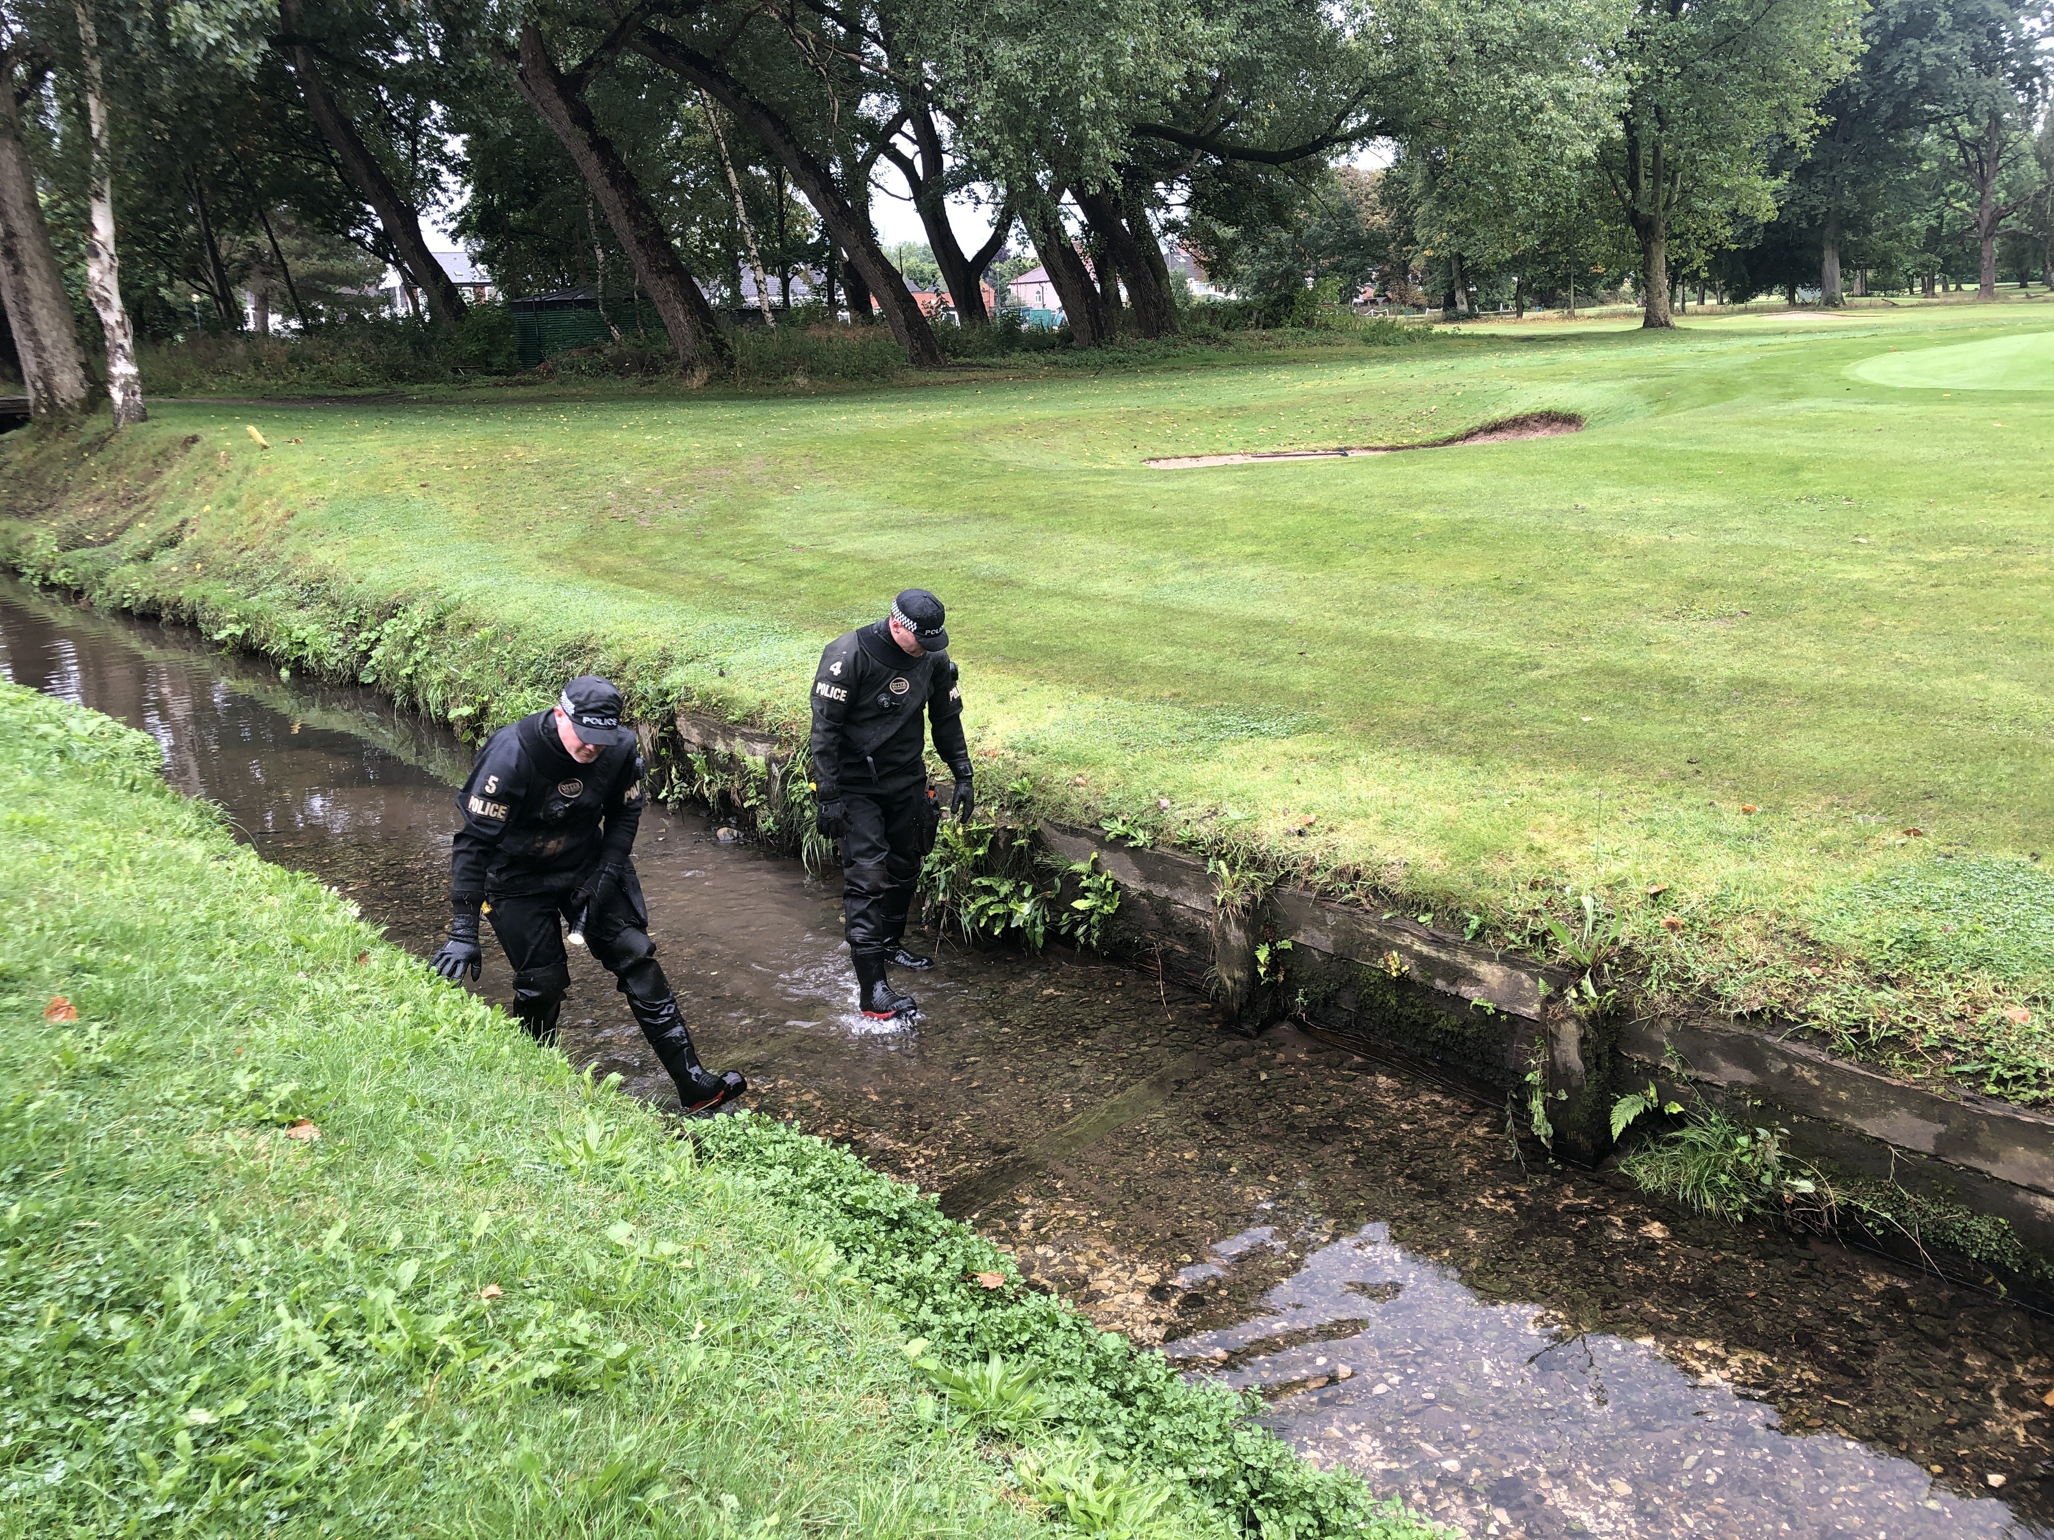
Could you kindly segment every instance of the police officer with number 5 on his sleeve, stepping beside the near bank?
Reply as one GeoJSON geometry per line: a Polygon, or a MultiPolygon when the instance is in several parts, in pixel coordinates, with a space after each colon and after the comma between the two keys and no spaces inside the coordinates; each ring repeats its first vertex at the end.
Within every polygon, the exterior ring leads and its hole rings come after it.
{"type": "Polygon", "coordinates": [[[479,908],[514,965],[514,1016],[544,1043],[571,988],[561,920],[629,998],[635,1023],[678,1084],[688,1113],[733,1101],[748,1082],[709,1074],[684,1029],[649,940],[649,908],[635,879],[643,762],[620,723],[620,692],[594,676],[571,680],[553,710],[487,739],[456,795],[464,815],[450,854],[450,940],[435,953],[446,979],[479,975],[479,908]]]}

